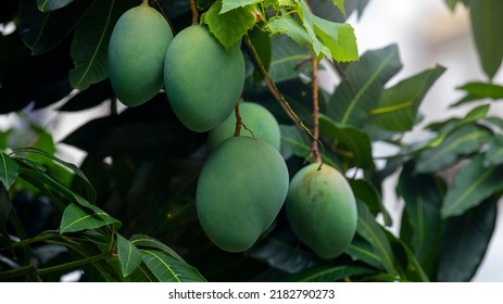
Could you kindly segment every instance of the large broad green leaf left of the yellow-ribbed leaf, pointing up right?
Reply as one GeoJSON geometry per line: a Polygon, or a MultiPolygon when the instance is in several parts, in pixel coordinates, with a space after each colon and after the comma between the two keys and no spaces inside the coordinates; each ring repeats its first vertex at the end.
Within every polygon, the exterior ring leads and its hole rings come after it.
{"type": "Polygon", "coordinates": [[[330,98],[326,114],[341,124],[362,126],[376,109],[385,84],[402,64],[395,45],[368,51],[350,63],[345,76],[330,98]]]}

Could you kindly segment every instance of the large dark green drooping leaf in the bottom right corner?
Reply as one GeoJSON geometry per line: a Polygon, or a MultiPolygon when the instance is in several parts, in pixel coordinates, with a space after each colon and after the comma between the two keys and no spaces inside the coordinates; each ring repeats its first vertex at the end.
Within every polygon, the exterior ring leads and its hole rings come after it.
{"type": "Polygon", "coordinates": [[[494,232],[496,201],[496,198],[490,198],[462,216],[445,220],[438,259],[438,281],[462,282],[474,277],[494,232]]]}

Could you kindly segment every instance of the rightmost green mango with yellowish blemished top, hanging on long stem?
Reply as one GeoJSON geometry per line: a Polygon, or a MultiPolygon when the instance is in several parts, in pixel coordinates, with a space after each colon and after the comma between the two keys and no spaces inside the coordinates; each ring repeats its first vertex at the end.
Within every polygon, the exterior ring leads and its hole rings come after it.
{"type": "Polygon", "coordinates": [[[290,181],[285,208],[297,237],[323,258],[340,255],[356,231],[353,191],[335,168],[311,164],[290,181]]]}

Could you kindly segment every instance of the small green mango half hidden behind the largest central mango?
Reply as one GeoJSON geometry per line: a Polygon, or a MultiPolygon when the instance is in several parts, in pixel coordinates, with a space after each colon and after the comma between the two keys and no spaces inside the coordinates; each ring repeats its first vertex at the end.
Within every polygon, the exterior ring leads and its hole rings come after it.
{"type": "MultiPolygon", "coordinates": [[[[281,144],[281,131],[278,121],[265,107],[254,102],[241,102],[239,104],[239,114],[242,123],[250,129],[253,135],[241,126],[241,136],[255,137],[271,143],[276,150],[281,144]]],[[[210,130],[208,134],[208,148],[210,151],[216,148],[221,142],[232,137],[236,131],[236,111],[210,130]]]]}

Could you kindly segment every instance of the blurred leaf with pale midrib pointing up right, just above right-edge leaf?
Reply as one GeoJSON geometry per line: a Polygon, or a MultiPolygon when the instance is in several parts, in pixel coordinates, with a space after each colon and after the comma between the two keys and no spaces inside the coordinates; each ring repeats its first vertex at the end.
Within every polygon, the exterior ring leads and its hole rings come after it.
{"type": "Polygon", "coordinates": [[[458,160],[468,155],[490,142],[492,134],[476,124],[469,124],[457,128],[442,139],[435,148],[424,151],[416,165],[416,173],[428,173],[443,169],[458,160]]]}

